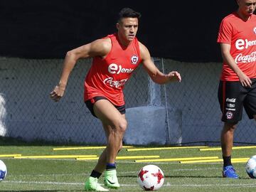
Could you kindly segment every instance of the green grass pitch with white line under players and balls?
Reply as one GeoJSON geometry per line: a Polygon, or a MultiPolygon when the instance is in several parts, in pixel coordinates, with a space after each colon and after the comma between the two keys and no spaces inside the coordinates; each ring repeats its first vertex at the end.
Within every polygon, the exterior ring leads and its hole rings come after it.
{"type": "MultiPolygon", "coordinates": [[[[64,155],[101,154],[102,149],[53,151],[60,146],[36,146],[32,144],[4,144],[0,154],[64,155]]],[[[65,146],[61,146],[65,147],[65,146]]],[[[68,146],[70,147],[70,146],[68,146]]],[[[141,148],[137,146],[137,148],[141,148]]],[[[233,158],[255,155],[255,149],[233,150],[233,158]]],[[[122,149],[119,156],[159,155],[163,158],[193,156],[219,156],[221,151],[199,151],[199,149],[169,149],[153,151],[127,151],[122,149]]],[[[84,191],[85,178],[90,175],[96,160],[75,159],[14,159],[0,157],[5,162],[8,174],[0,182],[0,191],[84,191]]],[[[240,178],[222,178],[222,163],[179,164],[174,162],[136,163],[133,159],[117,160],[117,176],[121,188],[110,191],[142,191],[137,184],[137,173],[142,166],[155,164],[165,175],[164,186],[159,191],[256,191],[256,179],[245,172],[245,163],[234,164],[240,178]]],[[[99,179],[103,183],[103,178],[99,179]]]]}

